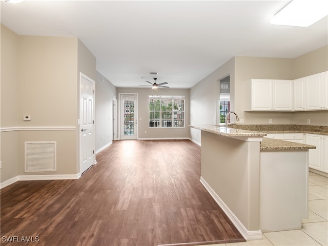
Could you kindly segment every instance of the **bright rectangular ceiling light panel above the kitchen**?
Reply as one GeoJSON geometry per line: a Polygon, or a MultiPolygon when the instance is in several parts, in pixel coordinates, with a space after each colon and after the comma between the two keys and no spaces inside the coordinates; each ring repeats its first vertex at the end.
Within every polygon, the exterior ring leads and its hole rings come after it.
{"type": "Polygon", "coordinates": [[[274,25],[309,27],[328,15],[327,0],[293,0],[271,19],[274,25]]]}

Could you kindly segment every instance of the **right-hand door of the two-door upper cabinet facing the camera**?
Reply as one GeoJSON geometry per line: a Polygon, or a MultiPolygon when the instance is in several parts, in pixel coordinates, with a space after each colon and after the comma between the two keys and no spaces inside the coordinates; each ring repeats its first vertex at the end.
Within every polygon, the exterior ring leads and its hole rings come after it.
{"type": "Polygon", "coordinates": [[[294,110],[293,80],[272,80],[273,97],[272,108],[277,111],[294,110]]]}

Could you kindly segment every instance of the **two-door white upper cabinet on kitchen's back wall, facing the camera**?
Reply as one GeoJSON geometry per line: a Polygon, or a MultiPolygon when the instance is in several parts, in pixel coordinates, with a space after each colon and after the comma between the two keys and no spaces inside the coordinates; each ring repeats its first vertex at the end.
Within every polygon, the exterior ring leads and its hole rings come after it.
{"type": "Polygon", "coordinates": [[[293,80],[251,79],[245,85],[246,111],[293,111],[293,80]]]}

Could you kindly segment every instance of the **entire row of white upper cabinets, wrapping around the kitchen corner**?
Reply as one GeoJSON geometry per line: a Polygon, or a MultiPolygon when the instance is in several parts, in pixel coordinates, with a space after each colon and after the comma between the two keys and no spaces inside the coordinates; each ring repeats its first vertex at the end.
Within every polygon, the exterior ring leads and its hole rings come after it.
{"type": "Polygon", "coordinates": [[[328,71],[295,80],[250,79],[243,91],[245,111],[328,110],[328,71]]]}

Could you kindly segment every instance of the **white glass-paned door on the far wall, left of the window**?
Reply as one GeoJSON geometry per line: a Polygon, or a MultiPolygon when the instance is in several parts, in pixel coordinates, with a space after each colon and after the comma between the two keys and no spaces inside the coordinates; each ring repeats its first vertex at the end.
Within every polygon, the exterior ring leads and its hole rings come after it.
{"type": "Polygon", "coordinates": [[[138,95],[121,94],[119,99],[120,139],[137,139],[138,95]]]}

